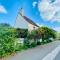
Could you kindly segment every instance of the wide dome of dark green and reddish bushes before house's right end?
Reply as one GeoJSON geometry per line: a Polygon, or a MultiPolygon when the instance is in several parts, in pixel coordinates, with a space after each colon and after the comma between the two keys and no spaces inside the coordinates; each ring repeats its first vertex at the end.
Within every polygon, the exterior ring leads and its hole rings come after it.
{"type": "MultiPolygon", "coordinates": [[[[28,39],[34,39],[35,41],[38,39],[42,39],[44,42],[48,42],[47,40],[51,41],[50,38],[56,38],[56,31],[50,29],[48,27],[39,27],[36,30],[33,30],[31,33],[28,34],[28,39]]],[[[40,43],[37,41],[37,43],[40,43]]]]}

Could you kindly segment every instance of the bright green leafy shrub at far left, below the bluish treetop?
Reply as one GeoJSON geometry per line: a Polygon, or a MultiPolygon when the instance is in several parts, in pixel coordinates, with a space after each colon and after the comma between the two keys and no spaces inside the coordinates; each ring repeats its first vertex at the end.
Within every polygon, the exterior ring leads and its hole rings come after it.
{"type": "Polygon", "coordinates": [[[0,32],[0,57],[15,51],[15,33],[14,29],[3,29],[0,32]]]}

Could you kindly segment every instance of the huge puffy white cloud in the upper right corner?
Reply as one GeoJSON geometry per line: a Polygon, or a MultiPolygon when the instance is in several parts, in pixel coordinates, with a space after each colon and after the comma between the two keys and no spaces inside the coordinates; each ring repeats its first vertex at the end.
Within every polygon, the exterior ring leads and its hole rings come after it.
{"type": "Polygon", "coordinates": [[[40,16],[44,20],[60,22],[60,0],[42,0],[38,3],[40,16]]]}

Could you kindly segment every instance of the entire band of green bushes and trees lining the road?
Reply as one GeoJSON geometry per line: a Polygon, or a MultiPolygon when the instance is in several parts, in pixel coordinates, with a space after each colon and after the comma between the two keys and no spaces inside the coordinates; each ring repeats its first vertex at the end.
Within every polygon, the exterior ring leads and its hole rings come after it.
{"type": "Polygon", "coordinates": [[[20,51],[40,45],[40,39],[43,43],[51,42],[49,38],[56,38],[56,32],[47,27],[40,27],[31,33],[27,29],[14,29],[9,24],[0,24],[0,58],[13,52],[20,51]],[[24,45],[18,43],[17,38],[25,38],[24,45]],[[31,42],[31,40],[33,40],[31,42]]]}

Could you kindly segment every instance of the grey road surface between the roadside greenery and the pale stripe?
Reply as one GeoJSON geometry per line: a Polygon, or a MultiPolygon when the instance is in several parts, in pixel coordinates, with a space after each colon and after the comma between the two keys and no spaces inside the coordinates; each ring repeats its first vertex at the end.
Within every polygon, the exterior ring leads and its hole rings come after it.
{"type": "Polygon", "coordinates": [[[42,60],[47,54],[53,51],[58,45],[60,45],[60,41],[54,41],[52,43],[40,45],[35,48],[19,52],[15,56],[8,57],[3,60],[42,60]]]}

